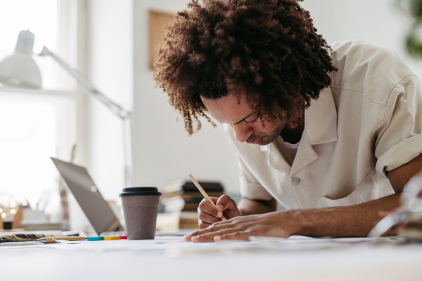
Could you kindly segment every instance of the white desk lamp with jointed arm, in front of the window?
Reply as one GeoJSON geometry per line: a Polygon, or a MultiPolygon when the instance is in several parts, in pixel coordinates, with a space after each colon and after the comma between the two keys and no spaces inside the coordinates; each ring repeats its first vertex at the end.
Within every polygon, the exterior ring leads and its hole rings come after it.
{"type": "MultiPolygon", "coordinates": [[[[19,32],[15,52],[4,58],[0,62],[0,82],[5,86],[23,87],[29,89],[41,89],[41,73],[37,63],[32,58],[32,48],[34,46],[34,34],[29,30],[19,32]]],[[[132,186],[132,143],[130,115],[131,110],[125,109],[122,105],[110,100],[108,96],[98,91],[94,85],[79,71],[73,69],[60,59],[56,54],[43,47],[41,56],[51,56],[60,67],[74,77],[84,90],[106,105],[123,122],[124,138],[124,184],[126,187],[132,186]]]]}

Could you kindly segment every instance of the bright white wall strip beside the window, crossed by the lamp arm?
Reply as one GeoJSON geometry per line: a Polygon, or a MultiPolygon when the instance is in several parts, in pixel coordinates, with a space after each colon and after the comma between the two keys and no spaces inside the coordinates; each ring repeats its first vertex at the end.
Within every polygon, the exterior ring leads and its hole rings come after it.
{"type": "MultiPolygon", "coordinates": [[[[115,102],[132,105],[132,0],[88,1],[88,77],[115,102]]],[[[87,168],[106,200],[124,188],[122,121],[108,107],[89,98],[87,168]]]]}

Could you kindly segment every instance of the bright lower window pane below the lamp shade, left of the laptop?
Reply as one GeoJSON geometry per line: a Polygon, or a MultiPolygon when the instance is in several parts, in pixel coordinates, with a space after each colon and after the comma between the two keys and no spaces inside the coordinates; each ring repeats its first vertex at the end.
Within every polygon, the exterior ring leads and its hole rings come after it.
{"type": "Polygon", "coordinates": [[[42,192],[58,190],[49,157],[68,159],[60,152],[72,146],[74,107],[65,97],[0,94],[0,192],[36,204],[42,192]]]}

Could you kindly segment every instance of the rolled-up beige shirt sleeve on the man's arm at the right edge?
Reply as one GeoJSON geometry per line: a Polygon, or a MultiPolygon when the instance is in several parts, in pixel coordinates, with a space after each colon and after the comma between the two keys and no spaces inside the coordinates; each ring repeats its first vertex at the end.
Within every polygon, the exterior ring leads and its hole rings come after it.
{"type": "Polygon", "coordinates": [[[422,91],[416,76],[392,89],[376,139],[376,170],[396,169],[422,153],[422,91]]]}

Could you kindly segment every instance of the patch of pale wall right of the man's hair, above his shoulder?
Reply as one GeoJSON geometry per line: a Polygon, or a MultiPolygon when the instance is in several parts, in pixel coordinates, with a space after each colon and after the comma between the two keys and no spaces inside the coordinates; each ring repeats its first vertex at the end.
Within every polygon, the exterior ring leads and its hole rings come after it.
{"type": "Polygon", "coordinates": [[[396,0],[305,0],[302,7],[311,13],[318,33],[328,44],[347,40],[383,44],[392,48],[421,78],[421,63],[409,58],[404,49],[409,16],[396,3],[396,0]]]}

